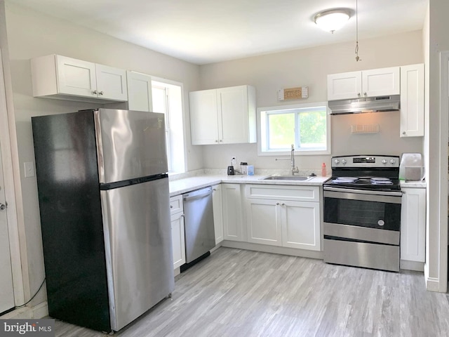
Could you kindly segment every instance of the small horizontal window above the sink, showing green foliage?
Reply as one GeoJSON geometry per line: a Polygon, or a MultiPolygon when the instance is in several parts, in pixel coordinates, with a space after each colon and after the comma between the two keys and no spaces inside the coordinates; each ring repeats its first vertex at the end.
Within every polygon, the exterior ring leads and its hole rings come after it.
{"type": "Polygon", "coordinates": [[[257,109],[260,155],[279,155],[295,147],[297,154],[330,154],[327,103],[257,109]]]}

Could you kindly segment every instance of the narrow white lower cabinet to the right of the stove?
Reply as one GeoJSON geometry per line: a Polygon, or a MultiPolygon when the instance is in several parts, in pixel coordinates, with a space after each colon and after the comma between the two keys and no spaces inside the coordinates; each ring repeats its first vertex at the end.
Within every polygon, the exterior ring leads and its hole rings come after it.
{"type": "Polygon", "coordinates": [[[401,188],[401,260],[425,262],[426,189],[401,188]]]}

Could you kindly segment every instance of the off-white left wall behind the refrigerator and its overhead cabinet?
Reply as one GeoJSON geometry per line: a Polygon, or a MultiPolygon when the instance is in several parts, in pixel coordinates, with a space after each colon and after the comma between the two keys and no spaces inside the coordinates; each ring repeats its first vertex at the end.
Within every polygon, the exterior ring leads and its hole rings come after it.
{"type": "MultiPolygon", "coordinates": [[[[36,56],[57,53],[182,82],[185,89],[187,126],[189,125],[188,93],[199,89],[199,66],[10,3],[6,3],[6,27],[11,60],[30,289],[34,293],[41,284],[44,272],[36,178],[24,178],[22,171],[23,162],[34,162],[31,117],[74,112],[100,105],[33,98],[29,60],[36,56]]],[[[188,127],[187,131],[189,131],[188,127]]],[[[189,145],[189,132],[186,143],[187,168],[189,170],[201,168],[203,166],[201,148],[189,145]]],[[[32,304],[41,303],[43,300],[45,300],[45,291],[41,291],[32,304]]]]}

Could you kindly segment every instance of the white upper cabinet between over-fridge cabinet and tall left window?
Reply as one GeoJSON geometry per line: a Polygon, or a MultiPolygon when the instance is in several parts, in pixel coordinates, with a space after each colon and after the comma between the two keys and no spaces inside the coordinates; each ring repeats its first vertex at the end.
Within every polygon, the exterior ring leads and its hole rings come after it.
{"type": "Polygon", "coordinates": [[[140,72],[126,72],[128,109],[153,111],[152,77],[140,72]]]}

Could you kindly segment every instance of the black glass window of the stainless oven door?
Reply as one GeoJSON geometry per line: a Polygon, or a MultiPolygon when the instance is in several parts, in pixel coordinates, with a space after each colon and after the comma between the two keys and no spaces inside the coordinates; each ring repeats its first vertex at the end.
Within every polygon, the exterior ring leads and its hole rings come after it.
{"type": "Polygon", "coordinates": [[[325,223],[383,230],[399,230],[401,226],[401,204],[325,197],[323,209],[325,223]]]}

